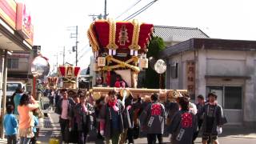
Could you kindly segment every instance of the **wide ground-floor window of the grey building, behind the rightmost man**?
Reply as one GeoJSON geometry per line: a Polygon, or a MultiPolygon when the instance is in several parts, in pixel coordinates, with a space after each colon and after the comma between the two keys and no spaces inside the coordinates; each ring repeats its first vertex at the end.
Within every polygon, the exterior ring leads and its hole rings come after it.
{"type": "Polygon", "coordinates": [[[206,96],[214,92],[217,101],[224,109],[242,109],[242,86],[206,86],[206,96]]]}

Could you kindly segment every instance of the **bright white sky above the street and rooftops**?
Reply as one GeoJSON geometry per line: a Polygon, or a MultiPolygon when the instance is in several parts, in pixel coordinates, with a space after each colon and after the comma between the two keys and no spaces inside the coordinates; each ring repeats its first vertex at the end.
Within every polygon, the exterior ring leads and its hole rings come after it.
{"type": "MultiPolygon", "coordinates": [[[[34,25],[34,45],[42,46],[42,55],[49,58],[50,65],[63,62],[74,63],[74,26],[78,26],[78,66],[90,63],[91,48],[86,31],[93,18],[90,14],[104,14],[105,0],[16,0],[26,3],[34,25]],[[72,30],[73,29],[73,30],[72,30]]],[[[108,18],[120,14],[118,21],[134,14],[153,0],[107,0],[108,18]],[[138,2],[139,1],[139,2],[138,2]]],[[[158,0],[135,17],[139,22],[158,26],[198,27],[210,38],[242,39],[256,41],[256,2],[254,0],[158,0]]]]}

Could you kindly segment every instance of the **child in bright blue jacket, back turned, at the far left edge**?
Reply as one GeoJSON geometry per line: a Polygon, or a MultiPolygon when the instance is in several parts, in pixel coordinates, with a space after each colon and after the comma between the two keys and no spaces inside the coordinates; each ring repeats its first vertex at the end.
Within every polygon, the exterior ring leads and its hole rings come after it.
{"type": "Polygon", "coordinates": [[[14,116],[14,106],[8,105],[6,106],[7,114],[3,120],[3,126],[6,130],[7,144],[17,143],[17,128],[18,122],[16,117],[14,116]]]}

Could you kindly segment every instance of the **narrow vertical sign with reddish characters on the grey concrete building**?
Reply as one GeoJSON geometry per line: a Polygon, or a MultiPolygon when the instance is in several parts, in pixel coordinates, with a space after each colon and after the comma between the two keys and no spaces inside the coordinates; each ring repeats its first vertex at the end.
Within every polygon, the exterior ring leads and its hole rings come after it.
{"type": "Polygon", "coordinates": [[[195,95],[195,63],[194,61],[186,62],[186,82],[187,91],[191,98],[195,95]]]}

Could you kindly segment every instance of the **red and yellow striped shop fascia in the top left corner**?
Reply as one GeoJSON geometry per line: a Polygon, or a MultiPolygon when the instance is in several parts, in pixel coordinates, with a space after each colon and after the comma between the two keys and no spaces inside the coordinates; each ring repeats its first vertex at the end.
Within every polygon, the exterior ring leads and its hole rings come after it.
{"type": "Polygon", "coordinates": [[[14,0],[0,0],[0,18],[15,30],[16,2],[14,0]]]}

